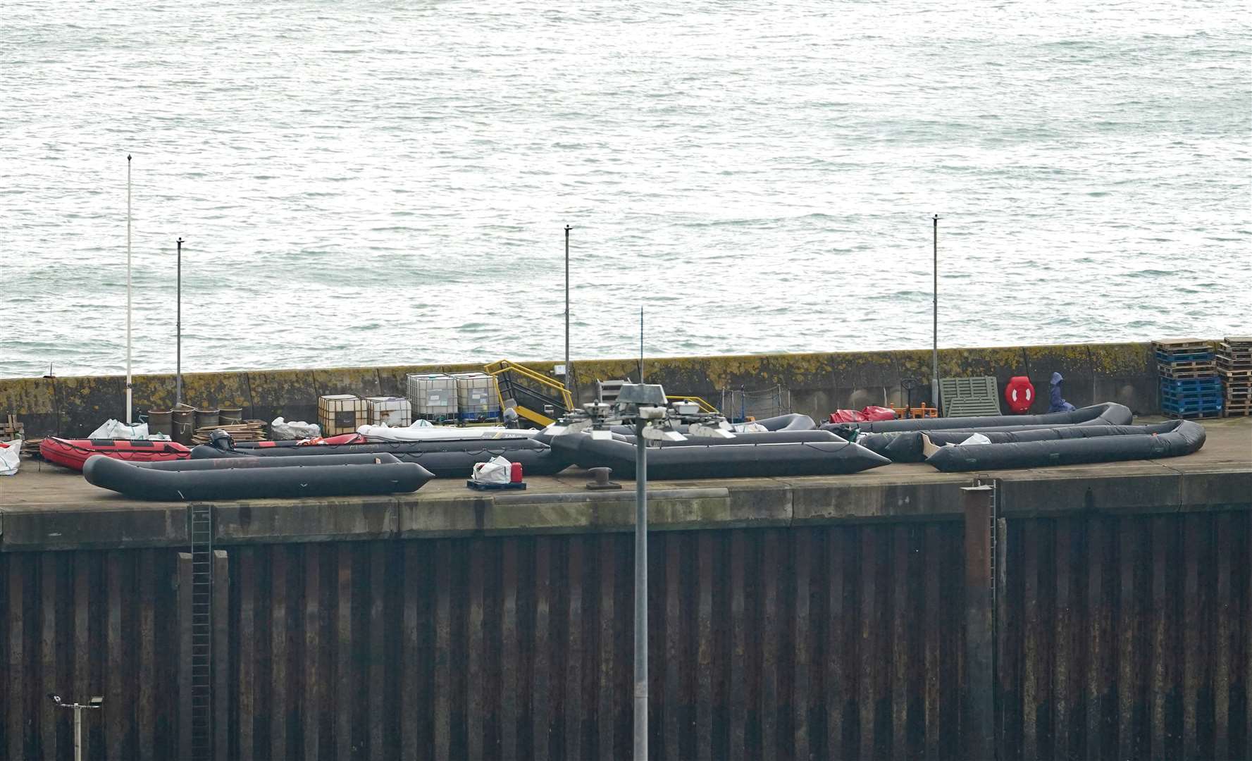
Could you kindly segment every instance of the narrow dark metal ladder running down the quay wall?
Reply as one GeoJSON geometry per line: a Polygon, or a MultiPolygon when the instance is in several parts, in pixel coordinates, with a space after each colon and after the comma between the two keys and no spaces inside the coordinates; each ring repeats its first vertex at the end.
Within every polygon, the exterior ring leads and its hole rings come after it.
{"type": "Polygon", "coordinates": [[[192,542],[192,758],[213,752],[213,506],[187,507],[192,542]]]}

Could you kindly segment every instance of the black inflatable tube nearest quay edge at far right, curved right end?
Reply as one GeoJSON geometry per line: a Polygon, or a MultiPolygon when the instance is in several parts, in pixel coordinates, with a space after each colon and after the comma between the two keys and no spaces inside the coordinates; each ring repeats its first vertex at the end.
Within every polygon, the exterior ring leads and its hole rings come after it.
{"type": "Polygon", "coordinates": [[[983,433],[992,439],[989,444],[959,444],[974,433],[980,432],[924,434],[930,444],[926,463],[945,473],[1038,468],[1181,457],[1204,446],[1204,427],[1192,421],[992,432],[983,433]]]}

